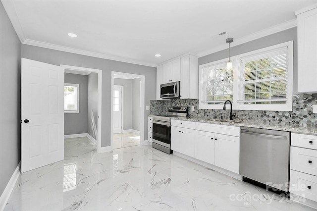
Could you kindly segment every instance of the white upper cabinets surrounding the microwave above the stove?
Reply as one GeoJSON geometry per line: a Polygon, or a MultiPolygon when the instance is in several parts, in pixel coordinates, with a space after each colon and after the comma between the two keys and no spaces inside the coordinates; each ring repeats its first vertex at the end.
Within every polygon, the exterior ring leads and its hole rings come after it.
{"type": "Polygon", "coordinates": [[[198,57],[188,54],[157,67],[157,100],[160,84],[180,81],[181,99],[198,99],[198,57]]]}

